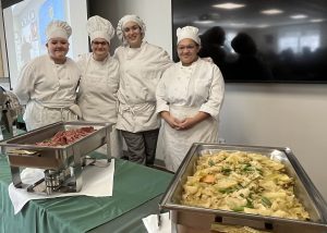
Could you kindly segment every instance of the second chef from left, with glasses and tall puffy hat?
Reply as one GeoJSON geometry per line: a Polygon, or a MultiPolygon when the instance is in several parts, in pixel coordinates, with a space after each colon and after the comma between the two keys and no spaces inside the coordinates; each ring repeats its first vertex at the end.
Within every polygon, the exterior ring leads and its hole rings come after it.
{"type": "MultiPolygon", "coordinates": [[[[113,123],[110,134],[111,156],[119,158],[122,155],[122,139],[116,130],[119,62],[109,53],[114,29],[108,20],[95,15],[87,21],[87,32],[92,52],[80,56],[77,60],[82,72],[77,103],[82,120],[113,123]]],[[[100,151],[105,152],[104,147],[100,151]]]]}

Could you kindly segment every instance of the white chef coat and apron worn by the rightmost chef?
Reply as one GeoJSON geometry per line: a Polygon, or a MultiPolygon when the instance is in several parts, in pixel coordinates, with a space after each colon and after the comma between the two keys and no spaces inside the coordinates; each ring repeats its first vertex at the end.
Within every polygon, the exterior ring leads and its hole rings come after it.
{"type": "Polygon", "coordinates": [[[183,120],[198,111],[210,114],[189,130],[177,131],[162,121],[160,135],[167,169],[177,171],[193,143],[218,140],[219,111],[223,100],[225,83],[216,64],[198,59],[190,66],[181,62],[169,68],[157,86],[157,112],[169,111],[183,120]]]}

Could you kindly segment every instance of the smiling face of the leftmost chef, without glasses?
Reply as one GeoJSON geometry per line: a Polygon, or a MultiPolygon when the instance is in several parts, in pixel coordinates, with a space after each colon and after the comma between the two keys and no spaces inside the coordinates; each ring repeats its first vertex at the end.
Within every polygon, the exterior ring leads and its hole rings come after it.
{"type": "Polygon", "coordinates": [[[70,44],[63,38],[52,38],[47,42],[48,53],[57,64],[65,62],[65,56],[70,49],[70,44]]]}

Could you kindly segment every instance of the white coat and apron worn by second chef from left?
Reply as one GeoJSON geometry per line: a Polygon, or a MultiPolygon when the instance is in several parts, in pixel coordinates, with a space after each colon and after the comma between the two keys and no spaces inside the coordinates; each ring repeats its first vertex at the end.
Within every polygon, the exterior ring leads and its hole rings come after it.
{"type": "Polygon", "coordinates": [[[121,157],[122,139],[116,130],[119,62],[110,56],[96,61],[93,53],[87,53],[78,58],[77,64],[82,72],[77,94],[82,120],[114,123],[110,134],[111,156],[121,157]]]}

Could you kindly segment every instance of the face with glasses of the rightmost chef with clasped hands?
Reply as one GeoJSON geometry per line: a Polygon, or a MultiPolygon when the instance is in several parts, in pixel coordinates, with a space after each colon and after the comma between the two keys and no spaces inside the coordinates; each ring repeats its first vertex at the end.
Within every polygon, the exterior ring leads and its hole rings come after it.
{"type": "Polygon", "coordinates": [[[197,60],[199,46],[193,39],[185,38],[179,42],[177,50],[182,64],[187,66],[197,60]]]}

